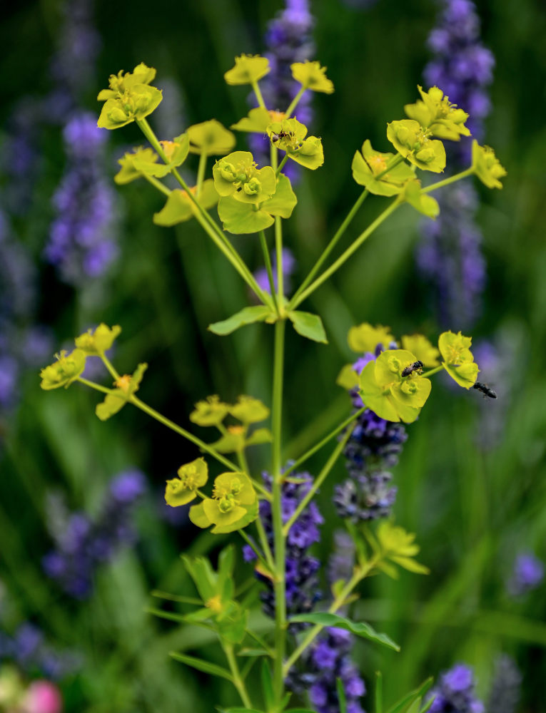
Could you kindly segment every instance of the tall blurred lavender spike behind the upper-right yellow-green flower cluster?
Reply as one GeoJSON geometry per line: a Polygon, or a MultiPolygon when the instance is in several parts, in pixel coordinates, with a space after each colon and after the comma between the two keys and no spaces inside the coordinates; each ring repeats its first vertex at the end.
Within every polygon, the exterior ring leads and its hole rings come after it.
{"type": "MultiPolygon", "coordinates": [[[[471,0],[443,0],[438,26],[431,32],[433,59],[425,67],[429,85],[439,86],[450,101],[470,114],[472,138],[481,138],[490,111],[487,86],[495,60],[480,42],[480,20],[471,0]]],[[[464,168],[470,161],[471,138],[448,143],[448,165],[464,168]]],[[[438,196],[440,217],[428,221],[418,248],[420,271],[434,286],[440,322],[470,327],[480,314],[485,287],[482,235],[475,224],[477,195],[470,185],[454,184],[438,196]]]]}

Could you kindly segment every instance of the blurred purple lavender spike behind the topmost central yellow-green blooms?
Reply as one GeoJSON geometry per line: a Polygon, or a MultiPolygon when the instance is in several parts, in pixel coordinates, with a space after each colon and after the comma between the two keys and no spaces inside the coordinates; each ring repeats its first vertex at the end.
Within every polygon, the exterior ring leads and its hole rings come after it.
{"type": "MultiPolygon", "coordinates": [[[[286,0],[285,9],[268,24],[266,31],[267,51],[271,72],[260,83],[266,106],[273,111],[286,111],[298,93],[300,85],[293,80],[290,65],[305,62],[313,57],[315,46],[311,39],[314,19],[310,14],[308,0],[286,0]]],[[[295,116],[304,124],[313,118],[310,106],[311,92],[300,98],[295,116]]],[[[255,103],[252,96],[251,101],[255,103]]],[[[261,134],[251,134],[251,149],[260,165],[269,163],[269,140],[261,134]]],[[[284,173],[290,180],[298,178],[298,167],[293,161],[285,165],[284,173]]]]}

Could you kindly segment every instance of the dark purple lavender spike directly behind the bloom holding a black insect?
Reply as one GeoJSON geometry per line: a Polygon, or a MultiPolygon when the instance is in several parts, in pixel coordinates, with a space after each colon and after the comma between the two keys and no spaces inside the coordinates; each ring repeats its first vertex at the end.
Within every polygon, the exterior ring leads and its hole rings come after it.
{"type": "MultiPolygon", "coordinates": [[[[360,356],[353,369],[360,374],[382,351],[383,344],[378,344],[375,354],[367,352],[360,356]]],[[[355,411],[361,409],[363,402],[358,391],[350,391],[350,395],[355,411]]],[[[343,451],[349,478],[335,487],[335,508],[340,517],[353,522],[387,517],[396,498],[388,468],[398,463],[398,454],[408,435],[404,426],[381,419],[371,409],[363,411],[350,427],[353,431],[343,451]]]]}

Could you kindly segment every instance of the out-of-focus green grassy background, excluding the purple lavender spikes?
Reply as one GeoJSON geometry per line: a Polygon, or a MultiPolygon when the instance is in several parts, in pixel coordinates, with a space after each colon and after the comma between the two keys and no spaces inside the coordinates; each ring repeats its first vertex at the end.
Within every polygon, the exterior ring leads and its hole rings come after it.
{"type": "MultiPolygon", "coordinates": [[[[81,107],[98,113],[95,96],[108,75],[145,61],[157,68],[158,86],[168,80],[172,91],[178,89],[178,98],[173,96],[180,106],[175,104],[173,116],[178,113],[185,122],[179,131],[208,118],[230,125],[248,111],[247,93],[226,86],[223,73],[236,54],[263,51],[266,24],[280,9],[280,2],[271,0],[99,0],[94,22],[101,51],[81,107]]],[[[398,523],[417,533],[420,560],[432,573],[403,573],[396,582],[376,578],[365,585],[358,615],[388,632],[402,653],[359,643],[355,659],[368,688],[374,672],[383,671],[385,698],[392,702],[458,660],[475,666],[478,690],[487,697],[495,658],[505,652],[523,675],[520,709],[538,712],[545,702],[545,590],[514,600],[505,583],[520,551],[546,558],[546,8],[538,0],[486,0],[477,9],[483,41],[497,61],[486,143],[508,175],[502,191],[478,187],[487,287],[472,337],[500,344],[505,352],[503,383],[492,379],[503,398],[486,403],[475,392],[460,394],[439,385],[419,421],[408,427],[394,471],[395,511],[398,523]],[[492,420],[495,446],[484,448],[482,436],[492,420]]],[[[415,101],[415,85],[430,58],[425,41],[437,7],[428,0],[380,0],[369,9],[354,9],[339,0],[320,0],[312,3],[312,11],[316,58],[328,66],[336,91],[314,98],[312,130],[323,138],[325,165],[305,174],[285,230],[285,244],[298,261],[296,282],[359,195],[350,175],[355,149],[370,138],[375,147],[388,150],[385,123],[415,101]]],[[[21,1],[4,6],[1,16],[5,146],[10,116],[21,98],[34,101],[51,91],[49,63],[61,4],[21,1]]],[[[108,138],[111,178],[115,158],[142,138],[136,125],[108,138]]],[[[243,148],[244,138],[238,142],[243,148]]],[[[248,304],[246,288],[198,225],[153,225],[151,215],[163,199],[150,186],[136,182],[115,188],[120,255],[106,277],[74,288],[44,264],[41,255],[54,215],[51,195],[65,162],[59,126],[41,130],[37,150],[39,164],[36,175],[29,176],[24,210],[10,220],[16,239],[39,266],[36,321],[51,328],[54,350],[91,324],[121,324],[114,355],[118,369],[132,371],[138,361],[147,361],[142,399],[183,426],[193,404],[208,394],[228,401],[251,394],[271,403],[272,330],[246,327],[225,338],[207,331],[211,322],[248,304]]],[[[2,189],[8,195],[7,178],[2,189]]],[[[381,210],[380,202],[365,202],[346,245],[381,210]]],[[[10,206],[3,201],[2,208],[9,212],[10,206]]],[[[415,268],[419,230],[417,214],[404,207],[308,300],[306,308],[323,317],[328,346],[289,331],[286,458],[297,456],[348,414],[348,397],[335,378],[353,358],[346,342],[351,325],[388,324],[396,335],[420,331],[432,339],[440,332],[433,297],[415,268]]],[[[254,237],[235,240],[248,264],[259,267],[254,237]]],[[[63,683],[68,711],[167,713],[191,707],[204,713],[218,702],[235,704],[227,684],[205,687],[201,674],[167,655],[178,649],[214,659],[214,645],[199,632],[146,612],[157,605],[149,594],[153,588],[192,593],[178,553],[216,551],[221,545],[221,538],[196,534],[186,520],[171,523],[161,509],[164,481],[196,457],[195,450],[129,408],[106,424],[99,422],[94,394],[77,387],[46,394],[36,369],[22,374],[19,386],[18,405],[0,416],[2,629],[13,632],[31,621],[59,647],[81,652],[84,664],[63,683]],[[131,466],[148,478],[148,495],[137,513],[138,542],[98,570],[89,600],[74,602],[41,570],[41,558],[51,548],[46,496],[60,490],[71,508],[96,511],[108,481],[131,466]]],[[[199,435],[209,438],[201,430],[199,435]]],[[[268,449],[255,449],[250,457],[253,469],[264,468],[268,449]]],[[[325,457],[321,451],[309,462],[312,473],[325,457]]],[[[340,462],[320,493],[328,515],[333,485],[343,473],[340,462]]],[[[328,557],[339,524],[328,517],[320,558],[328,557]]],[[[250,576],[246,565],[241,581],[250,576]]],[[[256,620],[263,622],[258,613],[256,620]]],[[[372,707],[369,697],[365,703],[372,707]]]]}

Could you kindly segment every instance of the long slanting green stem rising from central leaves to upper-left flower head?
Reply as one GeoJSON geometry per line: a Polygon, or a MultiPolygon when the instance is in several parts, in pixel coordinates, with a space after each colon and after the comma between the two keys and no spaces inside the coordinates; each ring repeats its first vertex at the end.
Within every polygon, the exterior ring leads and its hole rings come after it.
{"type": "MultiPolygon", "coordinates": [[[[166,157],[165,152],[163,151],[161,143],[159,143],[158,138],[156,137],[155,133],[153,133],[153,130],[148,124],[148,121],[146,119],[141,119],[137,120],[136,123],[138,125],[138,128],[141,129],[142,133],[146,136],[146,138],[156,150],[158,155],[161,157],[163,162],[169,163],[168,158],[166,157]]],[[[171,168],[171,173],[176,178],[178,183],[180,183],[182,188],[186,191],[186,194],[188,195],[188,198],[191,200],[191,202],[193,202],[193,205],[196,206],[198,210],[196,218],[201,227],[203,227],[203,230],[206,230],[208,236],[211,237],[216,247],[218,247],[221,252],[223,252],[229,262],[231,262],[233,267],[235,267],[239,275],[241,275],[244,281],[248,284],[248,287],[250,287],[252,291],[256,294],[258,299],[263,302],[263,304],[267,304],[268,307],[271,307],[271,305],[273,304],[273,302],[271,302],[271,298],[269,298],[268,295],[262,292],[262,290],[258,286],[258,283],[256,282],[256,279],[253,277],[251,271],[248,269],[246,262],[244,262],[243,258],[241,257],[241,255],[239,255],[235,247],[232,245],[231,241],[228,240],[228,237],[224,235],[218,225],[216,225],[216,222],[214,222],[208,212],[203,208],[201,203],[198,202],[186,181],[182,178],[180,173],[178,173],[178,170],[173,167],[171,168]]]]}

